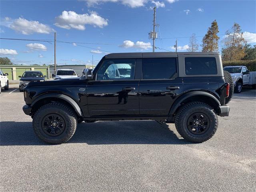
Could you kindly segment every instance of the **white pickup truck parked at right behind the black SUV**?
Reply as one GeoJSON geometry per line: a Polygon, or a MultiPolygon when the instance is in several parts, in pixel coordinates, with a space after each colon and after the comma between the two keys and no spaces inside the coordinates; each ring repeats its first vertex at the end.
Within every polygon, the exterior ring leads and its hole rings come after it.
{"type": "Polygon", "coordinates": [[[256,72],[250,72],[246,66],[226,66],[223,70],[230,72],[234,81],[234,92],[240,93],[245,85],[255,88],[256,72]]]}

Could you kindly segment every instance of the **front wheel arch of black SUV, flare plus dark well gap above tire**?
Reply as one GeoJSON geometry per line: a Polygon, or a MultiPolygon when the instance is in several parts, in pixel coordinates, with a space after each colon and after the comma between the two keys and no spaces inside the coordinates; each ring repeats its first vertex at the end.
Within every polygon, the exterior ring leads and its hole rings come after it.
{"type": "Polygon", "coordinates": [[[38,110],[38,108],[40,108],[42,105],[48,104],[50,102],[63,102],[72,107],[78,116],[82,116],[81,108],[72,98],[67,95],[58,93],[46,94],[36,98],[36,100],[34,100],[30,105],[32,107],[32,112],[36,112],[36,110],[38,110]]]}

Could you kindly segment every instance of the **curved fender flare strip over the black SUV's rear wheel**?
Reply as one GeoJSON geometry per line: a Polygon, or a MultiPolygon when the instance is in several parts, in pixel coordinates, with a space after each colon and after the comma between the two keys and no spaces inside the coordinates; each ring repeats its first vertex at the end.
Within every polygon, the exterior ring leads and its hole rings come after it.
{"type": "Polygon", "coordinates": [[[214,97],[212,94],[208,93],[208,92],[204,92],[204,91],[192,91],[192,92],[188,92],[183,94],[182,96],[180,96],[179,98],[177,98],[177,100],[175,100],[174,104],[172,104],[172,107],[170,109],[169,114],[172,115],[175,113],[175,111],[177,110],[177,108],[180,106],[180,104],[182,104],[182,102],[192,96],[207,96],[209,98],[212,98],[216,104],[218,106],[220,106],[220,101],[214,97]]]}

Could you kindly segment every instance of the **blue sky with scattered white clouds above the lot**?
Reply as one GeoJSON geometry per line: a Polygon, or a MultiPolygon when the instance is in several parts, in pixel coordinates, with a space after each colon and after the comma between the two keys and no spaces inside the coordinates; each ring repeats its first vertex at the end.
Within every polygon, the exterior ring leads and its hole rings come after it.
{"type": "MultiPolygon", "coordinates": [[[[256,1],[239,0],[1,0],[1,38],[22,38],[84,42],[57,43],[57,64],[94,64],[108,52],[151,52],[153,6],[156,10],[159,48],[186,51],[195,33],[201,44],[213,20],[219,26],[220,42],[234,22],[240,24],[246,40],[256,44],[256,1]],[[86,47],[89,48],[86,48],[86,47]],[[94,48],[94,49],[92,49],[94,48]]],[[[48,42],[0,40],[0,56],[15,64],[53,64],[54,44],[48,42]]],[[[200,48],[201,50],[201,48],[200,48]]]]}

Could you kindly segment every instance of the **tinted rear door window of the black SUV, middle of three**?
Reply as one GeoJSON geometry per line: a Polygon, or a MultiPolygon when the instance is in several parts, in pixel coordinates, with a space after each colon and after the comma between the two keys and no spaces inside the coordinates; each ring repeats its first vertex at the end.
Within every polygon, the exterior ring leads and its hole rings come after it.
{"type": "Polygon", "coordinates": [[[176,58],[144,58],[142,79],[170,79],[176,77],[176,58]]]}

